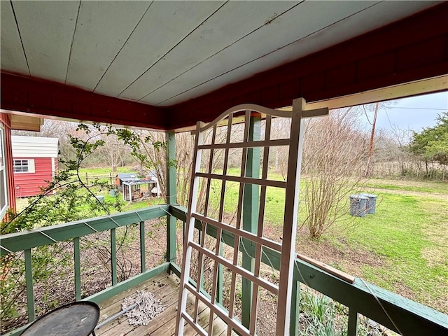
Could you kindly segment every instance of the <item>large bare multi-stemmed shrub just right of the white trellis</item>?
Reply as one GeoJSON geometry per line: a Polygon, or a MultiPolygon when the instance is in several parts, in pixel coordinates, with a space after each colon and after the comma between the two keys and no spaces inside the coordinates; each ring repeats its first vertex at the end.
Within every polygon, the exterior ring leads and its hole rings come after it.
{"type": "Polygon", "coordinates": [[[307,120],[302,173],[311,238],[320,237],[348,211],[349,195],[360,188],[368,150],[358,128],[356,108],[339,109],[330,116],[307,120]]]}

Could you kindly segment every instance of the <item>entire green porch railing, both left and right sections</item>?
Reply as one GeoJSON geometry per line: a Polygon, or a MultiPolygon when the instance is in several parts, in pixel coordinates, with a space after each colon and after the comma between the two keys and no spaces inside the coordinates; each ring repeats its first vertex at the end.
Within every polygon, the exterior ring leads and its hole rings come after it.
{"type": "MultiPolygon", "coordinates": [[[[118,227],[140,223],[140,244],[141,244],[141,274],[117,283],[116,272],[112,272],[111,281],[113,286],[102,290],[84,300],[92,300],[97,303],[127,290],[139,283],[151,279],[151,277],[167,272],[179,274],[180,268],[176,265],[175,257],[175,237],[176,225],[174,218],[180,221],[186,221],[186,209],[179,206],[161,205],[148,207],[137,211],[129,211],[111,216],[91,218],[86,221],[76,221],[61,225],[54,225],[47,228],[41,228],[30,232],[19,232],[11,235],[1,236],[0,255],[6,255],[17,251],[25,251],[25,277],[27,282],[27,308],[29,321],[33,321],[34,314],[34,290],[31,265],[31,248],[54,244],[57,241],[73,240],[73,260],[75,271],[75,293],[76,300],[80,300],[80,246],[79,238],[90,235],[95,232],[111,232],[111,251],[115,246],[115,230],[118,227]],[[165,264],[153,269],[145,269],[145,243],[144,243],[144,221],[154,218],[167,216],[167,211],[172,216],[168,216],[167,228],[167,261],[165,264]]],[[[201,230],[202,225],[199,221],[196,228],[201,230]]],[[[211,226],[207,227],[207,234],[216,237],[216,230],[211,226]]],[[[230,232],[223,231],[223,242],[228,246],[233,246],[235,237],[230,232]]],[[[255,255],[255,246],[246,244],[244,248],[250,255],[255,255]]],[[[262,262],[279,269],[280,256],[276,251],[265,248],[262,253],[262,262]]],[[[365,283],[360,279],[351,284],[347,283],[332,274],[324,272],[313,265],[302,260],[295,260],[293,309],[291,314],[290,334],[297,335],[297,321],[299,311],[297,309],[298,294],[300,290],[299,283],[305,283],[310,288],[327,295],[333,300],[349,307],[349,322],[347,325],[347,335],[355,336],[358,326],[358,314],[367,316],[373,321],[402,333],[406,336],[417,335],[448,335],[448,316],[439,311],[430,309],[422,304],[407,300],[394,293],[384,290],[370,283],[365,283]]],[[[112,253],[111,269],[116,269],[116,256],[112,253]]],[[[222,285],[221,285],[222,286],[222,285]]],[[[218,290],[218,293],[222,292],[218,290]]],[[[23,328],[18,328],[9,335],[18,335],[23,328]]]]}

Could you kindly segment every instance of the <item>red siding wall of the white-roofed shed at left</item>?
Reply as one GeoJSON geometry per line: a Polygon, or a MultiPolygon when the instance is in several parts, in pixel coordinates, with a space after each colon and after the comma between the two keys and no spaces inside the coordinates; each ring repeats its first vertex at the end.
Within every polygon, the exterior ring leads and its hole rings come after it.
{"type": "Polygon", "coordinates": [[[52,181],[52,158],[14,158],[14,160],[34,159],[34,173],[14,173],[16,197],[35,196],[41,193],[39,187],[47,186],[44,181],[52,181]]]}

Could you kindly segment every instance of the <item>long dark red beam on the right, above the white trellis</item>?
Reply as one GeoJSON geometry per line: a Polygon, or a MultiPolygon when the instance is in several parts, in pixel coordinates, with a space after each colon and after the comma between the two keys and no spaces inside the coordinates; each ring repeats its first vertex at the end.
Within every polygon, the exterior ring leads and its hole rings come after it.
{"type": "MultiPolygon", "coordinates": [[[[169,128],[209,122],[241,103],[278,108],[448,73],[448,3],[171,106],[169,128]]],[[[448,88],[447,88],[448,89],[448,88]]]]}

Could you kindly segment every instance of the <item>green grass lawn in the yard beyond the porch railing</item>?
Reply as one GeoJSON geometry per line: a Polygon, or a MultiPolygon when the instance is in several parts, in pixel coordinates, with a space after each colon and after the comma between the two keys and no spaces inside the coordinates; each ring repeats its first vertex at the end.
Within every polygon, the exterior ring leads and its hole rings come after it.
{"type": "MultiPolygon", "coordinates": [[[[121,167],[120,172],[131,172],[121,167]]],[[[104,176],[111,169],[83,169],[81,175],[104,176]]],[[[221,172],[216,172],[220,174],[221,172]]],[[[238,176],[236,169],[230,174],[238,176]]],[[[269,179],[282,181],[280,174],[269,173],[269,179]]],[[[302,179],[302,189],[306,179],[302,179]]],[[[378,195],[376,214],[353,218],[346,214],[326,232],[319,241],[312,241],[316,248],[325,249],[330,244],[337,251],[365,254],[379,260],[377,263],[360,263],[353,275],[362,277],[418,302],[448,312],[448,186],[446,183],[392,181],[372,179],[367,181],[365,192],[378,195]]],[[[225,213],[235,218],[239,186],[227,183],[225,213]]],[[[106,202],[112,202],[109,190],[102,190],[106,202]]],[[[121,197],[121,195],[118,195],[121,197]]],[[[221,197],[221,182],[211,184],[209,203],[217,208],[221,197]]],[[[140,209],[165,202],[151,199],[126,203],[123,211],[140,209]]],[[[281,231],[284,190],[267,188],[265,223],[281,231]]],[[[20,201],[20,204],[22,201],[20,201]]],[[[304,207],[299,207],[299,225],[304,220],[304,207]]],[[[306,239],[301,237],[302,239],[306,239]]],[[[314,246],[313,245],[313,246],[314,246]]],[[[331,257],[326,255],[327,257],[331,257]]],[[[335,257],[336,258],[336,257],[335,257]]],[[[330,260],[321,260],[330,263],[330,260]]],[[[336,260],[344,270],[350,255],[336,260]]]]}

